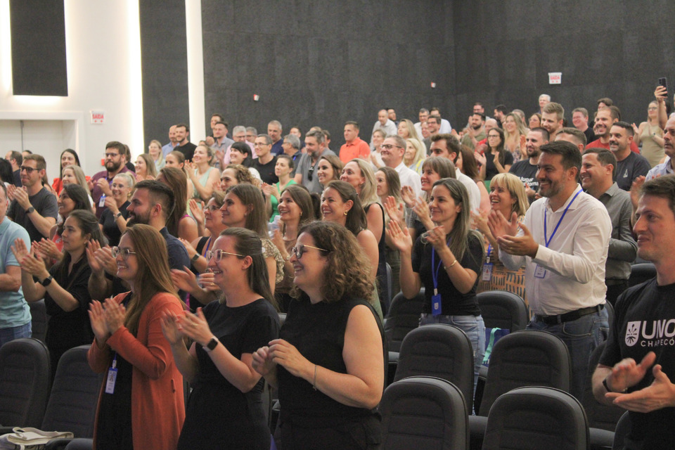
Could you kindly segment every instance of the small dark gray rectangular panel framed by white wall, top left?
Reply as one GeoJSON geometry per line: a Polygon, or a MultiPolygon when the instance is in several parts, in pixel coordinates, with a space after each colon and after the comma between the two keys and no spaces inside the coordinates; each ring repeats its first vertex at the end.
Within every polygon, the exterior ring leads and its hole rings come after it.
{"type": "Polygon", "coordinates": [[[11,0],[12,94],[68,96],[63,0],[11,0]]]}

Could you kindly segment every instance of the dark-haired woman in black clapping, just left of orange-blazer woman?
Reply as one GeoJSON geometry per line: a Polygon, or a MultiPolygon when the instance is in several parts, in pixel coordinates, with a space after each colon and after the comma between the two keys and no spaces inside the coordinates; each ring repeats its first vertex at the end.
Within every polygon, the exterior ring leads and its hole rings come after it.
{"type": "Polygon", "coordinates": [[[91,269],[84,249],[90,240],[106,244],[98,220],[91,210],[75,210],[65,219],[61,242],[63,258],[48,270],[32,247],[21,239],[14,241],[12,252],[21,265],[21,286],[27,302],[44,298],[49,315],[45,343],[51,356],[51,375],[66,350],[91,343],[91,326],[86,310],[91,302],[87,282],[91,269]],[[37,278],[37,282],[34,281],[37,278]]]}

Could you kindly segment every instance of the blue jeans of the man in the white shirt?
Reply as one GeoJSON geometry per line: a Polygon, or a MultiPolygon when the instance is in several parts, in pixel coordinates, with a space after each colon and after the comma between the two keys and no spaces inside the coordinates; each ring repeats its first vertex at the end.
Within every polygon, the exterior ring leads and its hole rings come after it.
{"type": "Polygon", "coordinates": [[[570,350],[572,359],[572,395],[581,400],[589,371],[589,358],[601,342],[607,339],[607,309],[581,316],[575,321],[547,325],[534,316],[527,324],[528,330],[544,330],[562,339],[570,350]]]}

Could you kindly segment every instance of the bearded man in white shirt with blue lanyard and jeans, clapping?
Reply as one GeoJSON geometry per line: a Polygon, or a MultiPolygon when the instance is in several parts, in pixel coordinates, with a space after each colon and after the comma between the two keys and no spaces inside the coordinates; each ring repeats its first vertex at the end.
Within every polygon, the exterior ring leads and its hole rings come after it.
{"type": "Polygon", "coordinates": [[[528,329],[557,335],[570,350],[572,390],[581,398],[589,356],[605,340],[605,261],[612,223],[605,205],[577,184],[579,150],[566,141],[541,146],[539,194],[518,223],[517,214],[492,211],[489,227],[509,270],[525,266],[534,312],[528,329]]]}

